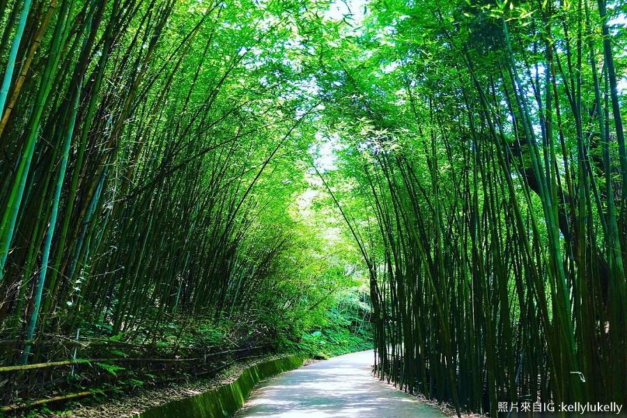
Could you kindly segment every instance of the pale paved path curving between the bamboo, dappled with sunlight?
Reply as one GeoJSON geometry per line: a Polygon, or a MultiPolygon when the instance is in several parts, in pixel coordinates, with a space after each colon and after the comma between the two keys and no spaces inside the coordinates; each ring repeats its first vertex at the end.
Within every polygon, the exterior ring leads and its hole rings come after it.
{"type": "Polygon", "coordinates": [[[282,373],[261,383],[234,418],[442,418],[438,410],[371,375],[362,351],[282,373]]]}

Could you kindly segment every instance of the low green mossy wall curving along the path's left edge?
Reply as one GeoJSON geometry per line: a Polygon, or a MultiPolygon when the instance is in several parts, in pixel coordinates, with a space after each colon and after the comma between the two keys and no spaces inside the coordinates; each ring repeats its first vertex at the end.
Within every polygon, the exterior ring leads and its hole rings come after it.
{"type": "Polygon", "coordinates": [[[254,385],[265,378],[302,366],[300,356],[282,357],[249,367],[233,382],[189,398],[141,412],[140,418],[226,418],[242,408],[254,385]]]}

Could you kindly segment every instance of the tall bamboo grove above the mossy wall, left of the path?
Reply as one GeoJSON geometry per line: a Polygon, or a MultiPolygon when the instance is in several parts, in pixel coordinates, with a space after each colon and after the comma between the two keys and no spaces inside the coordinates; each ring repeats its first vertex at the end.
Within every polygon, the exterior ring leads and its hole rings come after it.
{"type": "MultiPolygon", "coordinates": [[[[3,337],[156,341],[175,316],[284,304],[270,277],[291,238],[267,212],[298,183],[265,172],[293,176],[274,160],[308,115],[297,99],[277,104],[293,88],[276,47],[291,14],[0,1],[3,337]]],[[[28,343],[13,353],[47,360],[28,343]]]]}

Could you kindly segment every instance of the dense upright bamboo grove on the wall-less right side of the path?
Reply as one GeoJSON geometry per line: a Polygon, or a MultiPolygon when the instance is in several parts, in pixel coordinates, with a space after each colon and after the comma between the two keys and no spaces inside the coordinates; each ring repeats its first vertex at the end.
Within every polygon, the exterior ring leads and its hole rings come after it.
{"type": "Polygon", "coordinates": [[[355,59],[321,79],[343,181],[371,207],[370,226],[347,221],[378,376],[492,416],[500,402],[625,405],[619,5],[372,7],[341,45],[355,59]]]}

